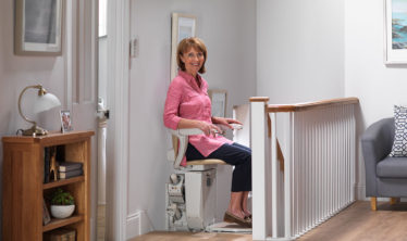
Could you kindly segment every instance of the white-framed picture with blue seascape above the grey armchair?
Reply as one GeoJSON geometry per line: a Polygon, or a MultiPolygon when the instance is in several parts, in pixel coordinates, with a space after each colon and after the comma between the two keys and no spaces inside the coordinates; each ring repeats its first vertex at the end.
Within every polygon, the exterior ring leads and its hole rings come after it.
{"type": "Polygon", "coordinates": [[[384,0],[384,64],[407,64],[407,1],[384,0]]]}

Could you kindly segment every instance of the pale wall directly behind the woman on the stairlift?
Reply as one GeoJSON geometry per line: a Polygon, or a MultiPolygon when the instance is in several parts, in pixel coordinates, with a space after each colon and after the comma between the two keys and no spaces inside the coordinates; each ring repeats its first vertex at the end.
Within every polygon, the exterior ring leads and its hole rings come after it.
{"type": "MultiPolygon", "coordinates": [[[[164,228],[164,183],[172,167],[165,156],[169,143],[162,112],[170,84],[172,12],[197,16],[197,36],[208,47],[203,77],[209,88],[229,90],[229,116],[232,105],[247,103],[256,92],[256,1],[132,1],[131,35],[139,47],[131,63],[127,227],[135,227],[139,221],[135,218],[141,217],[141,226],[147,221],[149,228],[164,228]]],[[[218,175],[221,213],[229,200],[230,168],[218,175]]],[[[134,229],[127,231],[127,237],[138,234],[134,229]]]]}

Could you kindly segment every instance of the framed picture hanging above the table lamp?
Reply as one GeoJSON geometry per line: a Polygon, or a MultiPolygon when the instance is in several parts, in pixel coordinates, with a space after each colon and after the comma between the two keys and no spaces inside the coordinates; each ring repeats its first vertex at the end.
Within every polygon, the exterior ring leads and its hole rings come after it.
{"type": "Polygon", "coordinates": [[[62,54],[63,0],[15,0],[14,53],[62,54]]]}

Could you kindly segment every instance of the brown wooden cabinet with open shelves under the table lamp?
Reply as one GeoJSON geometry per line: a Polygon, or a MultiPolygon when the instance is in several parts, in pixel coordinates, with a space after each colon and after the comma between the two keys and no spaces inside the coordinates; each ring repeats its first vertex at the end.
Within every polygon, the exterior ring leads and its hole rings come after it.
{"type": "Polygon", "coordinates": [[[94,131],[3,137],[2,240],[42,240],[47,231],[76,229],[76,240],[90,239],[90,138],[94,131]],[[62,161],[83,163],[84,175],[44,183],[45,148],[62,150],[62,161]],[[74,214],[42,225],[44,196],[62,187],[75,199],[74,214]]]}

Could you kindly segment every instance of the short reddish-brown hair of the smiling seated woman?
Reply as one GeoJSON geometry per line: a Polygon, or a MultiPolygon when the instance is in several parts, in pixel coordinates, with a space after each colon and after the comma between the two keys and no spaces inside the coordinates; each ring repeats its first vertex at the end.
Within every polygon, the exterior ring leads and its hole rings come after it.
{"type": "Polygon", "coordinates": [[[178,64],[178,67],[181,71],[185,72],[185,64],[182,62],[181,56],[189,51],[192,48],[199,50],[203,53],[203,64],[202,67],[198,71],[200,74],[203,74],[206,72],[205,69],[205,63],[207,62],[207,47],[205,46],[203,41],[196,37],[190,38],[184,38],[178,43],[178,48],[176,49],[176,63],[178,64]]]}

